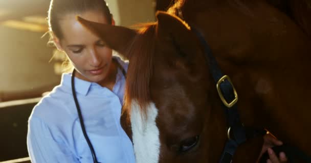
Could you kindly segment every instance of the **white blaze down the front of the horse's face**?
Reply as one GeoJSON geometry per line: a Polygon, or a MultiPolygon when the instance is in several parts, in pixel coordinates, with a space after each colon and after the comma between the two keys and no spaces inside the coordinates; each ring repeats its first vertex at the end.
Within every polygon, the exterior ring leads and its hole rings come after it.
{"type": "Polygon", "coordinates": [[[136,163],[158,163],[160,155],[159,129],[156,124],[158,109],[154,103],[147,106],[147,121],[136,100],[131,104],[131,128],[136,163]]]}

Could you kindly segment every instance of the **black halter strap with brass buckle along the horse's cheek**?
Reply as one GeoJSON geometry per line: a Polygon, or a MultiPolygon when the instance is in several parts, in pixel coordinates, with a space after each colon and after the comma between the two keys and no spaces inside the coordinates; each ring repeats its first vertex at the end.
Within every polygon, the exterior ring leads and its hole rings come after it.
{"type": "Polygon", "coordinates": [[[238,145],[246,141],[246,131],[241,123],[236,105],[238,96],[230,80],[230,77],[227,75],[223,75],[223,73],[221,72],[216,59],[212,55],[210,47],[208,46],[201,33],[199,33],[193,27],[191,27],[191,30],[196,34],[199,41],[204,47],[204,53],[209,65],[210,72],[213,76],[215,83],[217,84],[217,91],[219,97],[224,104],[223,108],[229,126],[228,137],[229,135],[233,135],[232,139],[227,140],[225,149],[223,151],[223,154],[221,154],[219,162],[231,162],[238,145]]]}

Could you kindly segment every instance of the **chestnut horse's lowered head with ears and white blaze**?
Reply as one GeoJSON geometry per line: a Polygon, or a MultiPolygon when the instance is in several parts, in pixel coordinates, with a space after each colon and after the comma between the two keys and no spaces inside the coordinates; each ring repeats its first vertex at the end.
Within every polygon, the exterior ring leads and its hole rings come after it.
{"type": "Polygon", "coordinates": [[[129,59],[123,111],[137,162],[216,162],[226,126],[202,47],[180,18],[157,19],[140,30],[79,21],[129,59]]]}

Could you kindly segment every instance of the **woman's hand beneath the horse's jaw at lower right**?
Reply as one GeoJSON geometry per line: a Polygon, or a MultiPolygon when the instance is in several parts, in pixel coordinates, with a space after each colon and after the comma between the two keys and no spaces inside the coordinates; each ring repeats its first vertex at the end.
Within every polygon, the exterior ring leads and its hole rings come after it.
{"type": "Polygon", "coordinates": [[[281,146],[283,143],[277,140],[272,134],[267,133],[263,136],[263,146],[259,155],[259,158],[264,152],[268,150],[269,158],[267,163],[285,163],[287,158],[284,152],[280,152],[279,156],[271,149],[274,146],[281,146]]]}

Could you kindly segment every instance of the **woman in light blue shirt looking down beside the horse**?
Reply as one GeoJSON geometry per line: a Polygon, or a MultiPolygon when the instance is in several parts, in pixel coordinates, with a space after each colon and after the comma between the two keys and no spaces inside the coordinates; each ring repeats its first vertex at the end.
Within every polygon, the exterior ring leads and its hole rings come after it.
{"type": "Polygon", "coordinates": [[[27,137],[31,161],[135,162],[132,144],[120,125],[127,63],[86,31],[76,21],[77,15],[115,23],[104,0],[51,1],[51,36],[75,71],[64,73],[60,85],[34,107],[27,137]],[[80,107],[83,121],[76,107],[80,107]]]}

